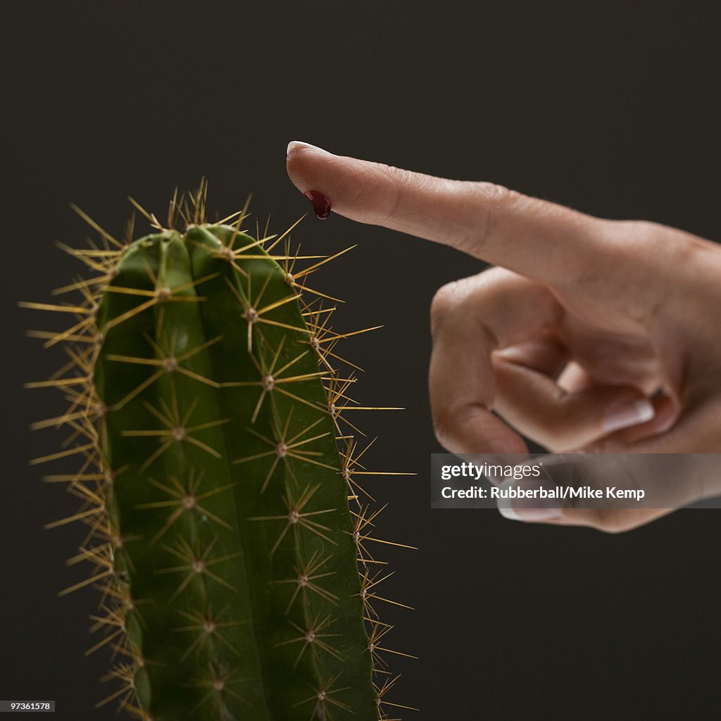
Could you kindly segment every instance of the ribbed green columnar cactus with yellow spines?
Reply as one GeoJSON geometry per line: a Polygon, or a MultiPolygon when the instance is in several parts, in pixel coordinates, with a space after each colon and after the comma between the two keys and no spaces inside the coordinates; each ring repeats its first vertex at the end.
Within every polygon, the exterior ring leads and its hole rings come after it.
{"type": "Polygon", "coordinates": [[[154,233],[135,241],[132,223],[119,242],[81,213],[103,242],[70,250],[95,272],[60,289],[80,301],[24,304],[72,318],[31,333],[69,356],[29,384],[69,401],[35,426],[72,432],[33,462],[81,461],[48,477],[82,501],[48,526],[89,526],[71,561],[92,572],[61,593],[101,590],[89,651],[112,649],[118,686],[100,704],[143,721],[388,718],[388,574],[344,417],[355,366],[306,285],[335,256],[298,270],[297,223],[253,237],[247,203],[208,223],[206,187],[176,192],[165,226],[136,204],[154,233]]]}

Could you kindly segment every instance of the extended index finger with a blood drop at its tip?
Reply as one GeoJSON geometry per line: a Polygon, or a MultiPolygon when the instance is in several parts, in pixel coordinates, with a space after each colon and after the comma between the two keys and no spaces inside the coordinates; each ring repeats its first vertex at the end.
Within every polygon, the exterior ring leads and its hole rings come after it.
{"type": "Polygon", "coordinates": [[[288,175],[361,223],[443,243],[492,265],[562,283],[609,252],[603,222],[490,182],[450,180],[288,145],[288,175]]]}

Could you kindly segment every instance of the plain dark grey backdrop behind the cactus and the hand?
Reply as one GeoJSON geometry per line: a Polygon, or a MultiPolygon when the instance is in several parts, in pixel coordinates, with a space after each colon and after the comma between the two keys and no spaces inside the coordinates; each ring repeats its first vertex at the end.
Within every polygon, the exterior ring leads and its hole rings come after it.
{"type": "MultiPolygon", "coordinates": [[[[286,177],[291,139],[338,154],[466,180],[493,180],[609,218],[719,231],[721,53],[712,3],[36,1],[4,4],[3,464],[0,698],[56,699],[60,721],[104,692],[87,615],[94,594],[63,565],[81,528],[43,531],[75,508],[43,485],[31,434],[57,410],[25,391],[57,356],[24,337],[42,320],[19,300],[50,298],[78,266],[78,203],[120,233],[129,193],[164,212],[177,184],[210,182],[209,205],[305,213],[286,177]]],[[[394,699],[408,718],[705,719],[721,671],[721,516],[683,511],[619,536],[524,526],[493,511],[431,511],[426,390],[428,304],[482,265],[446,247],[332,216],[293,237],[311,251],[358,249],[318,283],[348,299],[336,327],[384,329],[348,342],[367,368],[363,404],[380,436],[369,465],[418,472],[375,482],[381,532],[420,547],[386,554],[389,645],[420,660],[394,699]],[[383,518],[383,517],[381,517],[383,518]]],[[[710,323],[717,323],[712,319],[710,323]]]]}

